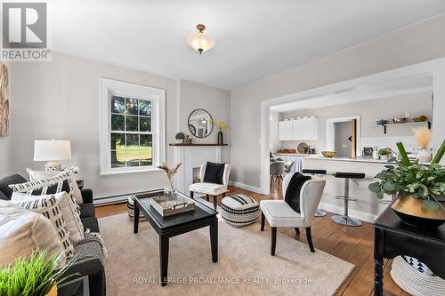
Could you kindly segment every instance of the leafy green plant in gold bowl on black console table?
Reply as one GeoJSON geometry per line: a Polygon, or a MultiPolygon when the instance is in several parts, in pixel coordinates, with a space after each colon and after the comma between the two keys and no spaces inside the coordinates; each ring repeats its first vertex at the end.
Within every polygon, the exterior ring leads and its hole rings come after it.
{"type": "Polygon", "coordinates": [[[445,167],[439,162],[445,152],[445,140],[430,165],[409,161],[402,143],[397,143],[401,160],[396,165],[385,165],[376,174],[378,181],[369,190],[378,198],[396,195],[391,207],[403,222],[410,225],[436,228],[445,222],[445,167]]]}

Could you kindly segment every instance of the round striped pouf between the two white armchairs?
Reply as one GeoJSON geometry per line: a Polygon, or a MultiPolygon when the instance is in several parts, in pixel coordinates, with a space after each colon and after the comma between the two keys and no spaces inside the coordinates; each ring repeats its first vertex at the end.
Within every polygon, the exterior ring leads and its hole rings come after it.
{"type": "Polygon", "coordinates": [[[232,227],[239,228],[258,220],[259,204],[250,196],[226,196],[222,201],[221,217],[232,227]]]}

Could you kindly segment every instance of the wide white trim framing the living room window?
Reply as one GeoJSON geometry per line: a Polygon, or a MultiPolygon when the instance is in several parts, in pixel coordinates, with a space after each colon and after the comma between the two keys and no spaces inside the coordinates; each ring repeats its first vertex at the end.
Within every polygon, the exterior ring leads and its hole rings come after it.
{"type": "Polygon", "coordinates": [[[157,166],[166,161],[166,91],[141,84],[125,83],[118,80],[99,79],[99,147],[101,152],[101,175],[127,172],[158,171],[157,166]],[[111,168],[110,143],[110,94],[134,99],[151,100],[151,131],[153,133],[153,164],[111,168]]]}

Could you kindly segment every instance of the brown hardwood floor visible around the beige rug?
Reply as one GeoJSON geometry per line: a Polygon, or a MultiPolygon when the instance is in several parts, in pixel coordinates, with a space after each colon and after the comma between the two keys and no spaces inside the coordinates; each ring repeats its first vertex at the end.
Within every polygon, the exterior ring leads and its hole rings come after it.
{"type": "MultiPolygon", "coordinates": [[[[281,198],[281,188],[275,185],[271,188],[271,194],[267,196],[240,188],[230,187],[229,189],[231,191],[229,194],[243,193],[255,198],[258,202],[264,199],[281,198]]],[[[221,204],[221,198],[219,204],[221,204]]],[[[126,204],[110,204],[96,208],[98,218],[122,212],[126,212],[126,204]]],[[[328,213],[328,216],[316,218],[313,222],[312,241],[315,248],[355,265],[352,274],[344,281],[336,295],[372,295],[374,287],[373,226],[364,222],[359,228],[345,227],[330,220],[330,216],[332,214],[328,213]]],[[[258,220],[258,223],[260,223],[260,220],[258,220]]],[[[266,231],[268,230],[266,227],[266,231]]],[[[295,234],[294,228],[279,228],[279,232],[307,244],[303,228],[300,235],[295,234]]],[[[384,294],[408,296],[407,292],[402,291],[392,281],[389,274],[391,263],[391,260],[386,260],[384,263],[384,294]]]]}

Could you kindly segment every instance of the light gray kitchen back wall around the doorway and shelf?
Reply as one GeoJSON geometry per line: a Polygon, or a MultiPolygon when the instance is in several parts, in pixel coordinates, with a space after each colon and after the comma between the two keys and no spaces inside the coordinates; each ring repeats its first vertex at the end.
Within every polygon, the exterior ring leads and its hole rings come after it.
{"type": "MultiPolygon", "coordinates": [[[[319,140],[307,141],[318,151],[325,149],[326,119],[343,116],[360,116],[361,137],[412,136],[413,125],[392,125],[387,128],[376,126],[376,120],[389,119],[409,112],[409,116],[425,115],[432,119],[431,92],[417,92],[378,100],[330,106],[325,108],[301,109],[283,113],[283,118],[314,115],[319,118],[319,140]]],[[[360,142],[360,141],[359,141],[360,142]]],[[[283,148],[296,148],[299,141],[281,141],[283,148]]]]}

